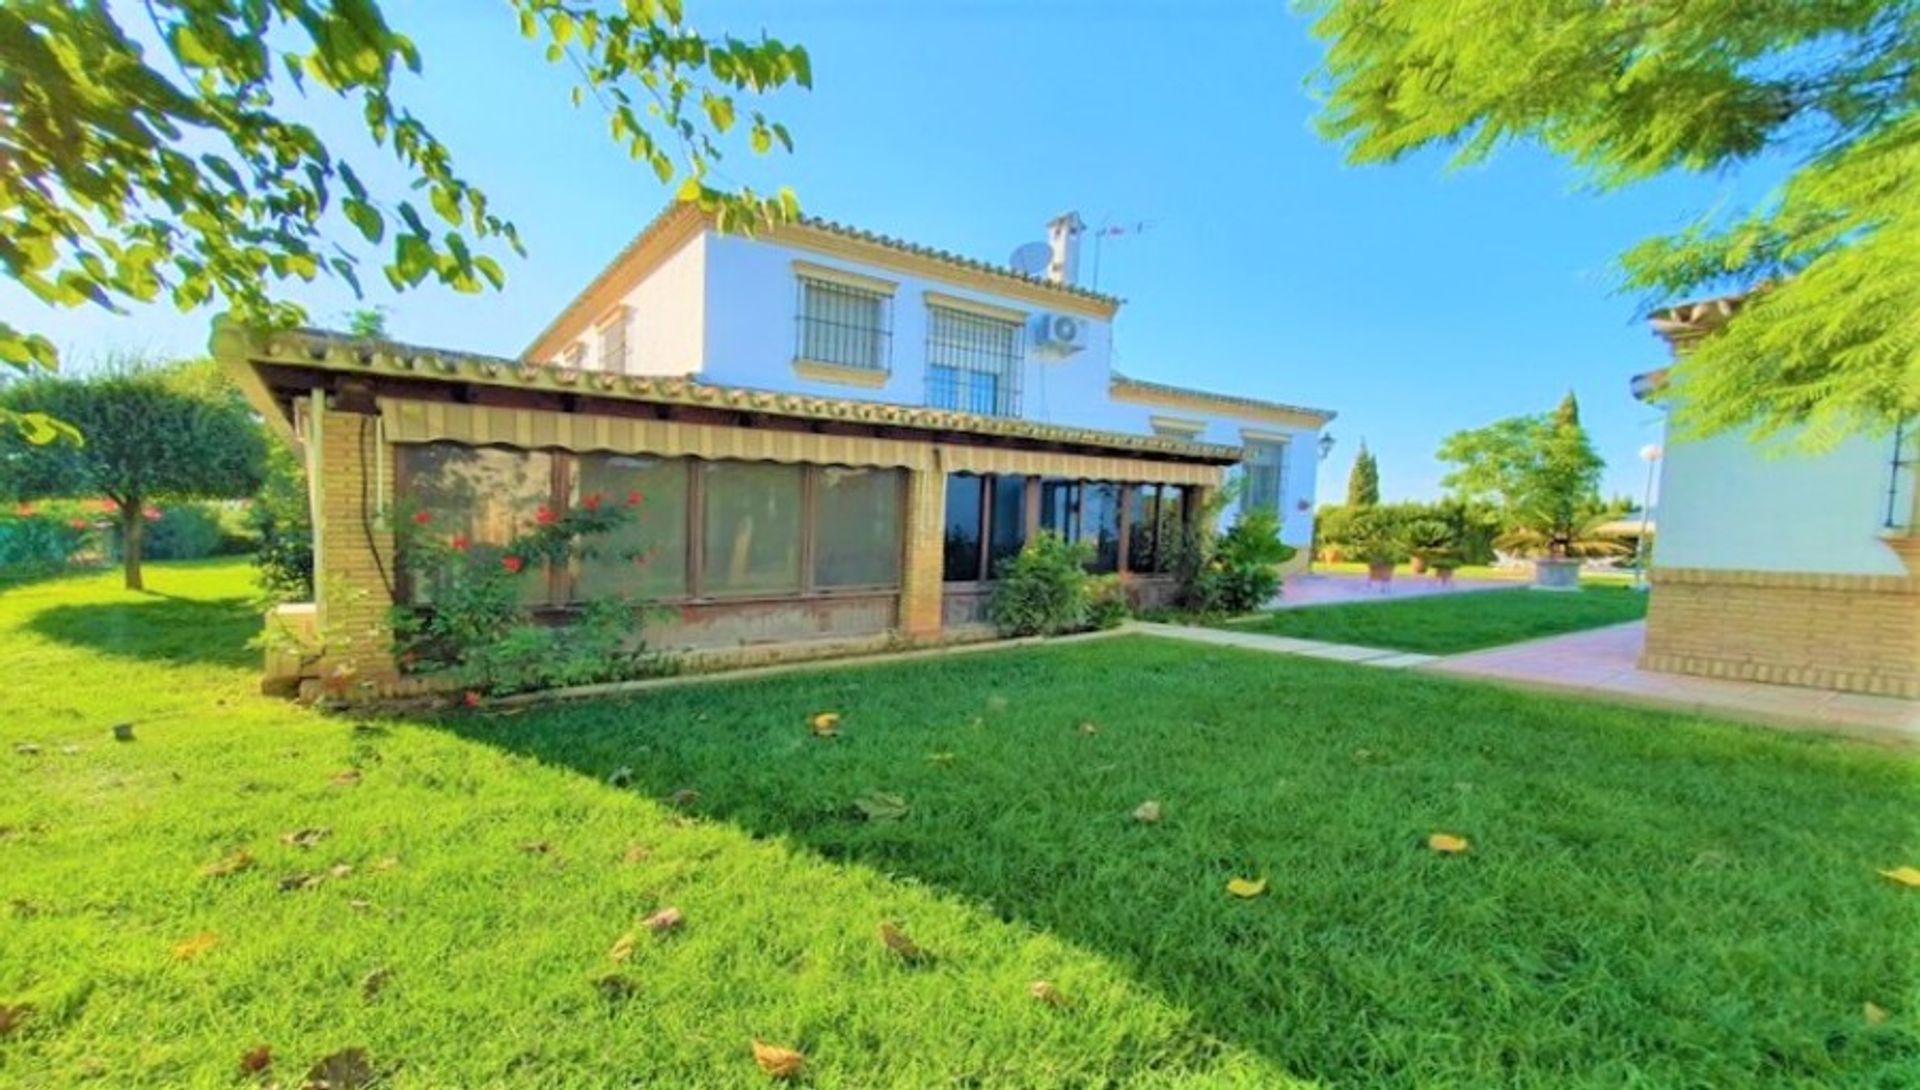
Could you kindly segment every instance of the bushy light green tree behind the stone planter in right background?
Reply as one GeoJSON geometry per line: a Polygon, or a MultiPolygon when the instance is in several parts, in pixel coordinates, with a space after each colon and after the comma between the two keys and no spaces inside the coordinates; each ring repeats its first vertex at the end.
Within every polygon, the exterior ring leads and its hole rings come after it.
{"type": "Polygon", "coordinates": [[[1444,478],[1457,499],[1500,505],[1503,549],[1572,557],[1590,545],[1582,526],[1597,522],[1599,474],[1607,462],[1594,451],[1572,393],[1553,413],[1509,416],[1448,436],[1440,461],[1457,466],[1444,478]]]}

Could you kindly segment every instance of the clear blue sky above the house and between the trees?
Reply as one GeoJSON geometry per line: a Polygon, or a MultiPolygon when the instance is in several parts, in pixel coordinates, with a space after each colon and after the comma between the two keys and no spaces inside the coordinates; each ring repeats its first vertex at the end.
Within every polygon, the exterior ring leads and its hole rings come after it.
{"type": "MultiPolygon", "coordinates": [[[[524,42],[505,6],[390,0],[426,58],[407,100],[528,246],[503,294],[422,288],[371,299],[394,336],[513,355],[666,201],[653,175],[568,102],[568,71],[524,42]]],[[[1657,415],[1626,380],[1665,349],[1619,294],[1632,242],[1778,180],[1764,171],[1674,177],[1594,194],[1559,161],[1511,148],[1448,171],[1444,155],[1346,167],[1311,130],[1319,46],[1283,4],[883,4],[687,0],[708,31],[803,42],[814,90],[768,111],[791,157],[743,150],[726,177],[791,184],[808,213],[1004,261],[1052,215],[1150,223],[1108,240],[1100,288],[1127,299],[1116,367],[1139,378],[1336,409],[1321,497],[1344,493],[1357,441],[1388,499],[1430,497],[1440,439],[1578,391],[1609,461],[1607,491],[1638,495],[1657,415]]],[[[353,115],[296,102],[336,142],[353,115]]],[[[372,154],[355,163],[372,163],[372,154]]],[[[392,171],[363,171],[396,192],[392,171]]],[[[353,305],[294,286],[319,324],[353,305]]],[[[192,353],[211,313],[52,313],[0,284],[15,324],[75,365],[111,351],[192,353]]]]}

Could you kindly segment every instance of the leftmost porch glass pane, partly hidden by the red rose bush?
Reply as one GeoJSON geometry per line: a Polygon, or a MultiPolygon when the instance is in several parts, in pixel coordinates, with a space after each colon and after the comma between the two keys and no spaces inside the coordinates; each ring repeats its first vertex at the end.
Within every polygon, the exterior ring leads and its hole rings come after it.
{"type": "MultiPolygon", "coordinates": [[[[472,562],[493,564],[503,545],[534,526],[553,497],[553,455],[503,451],[461,443],[403,443],[399,499],[413,533],[432,533],[457,543],[472,562]]],[[[415,601],[432,599],[430,585],[411,587],[415,601]]],[[[549,601],[545,568],[520,574],[520,599],[549,601]]]]}

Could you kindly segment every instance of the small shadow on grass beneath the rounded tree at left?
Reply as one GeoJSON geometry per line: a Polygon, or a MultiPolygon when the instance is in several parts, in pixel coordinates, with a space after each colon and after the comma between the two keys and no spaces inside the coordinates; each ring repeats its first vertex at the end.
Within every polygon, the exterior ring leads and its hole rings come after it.
{"type": "Polygon", "coordinates": [[[115,658],[202,666],[259,666],[250,647],[259,606],[248,599],[179,599],[148,593],[138,601],[63,604],[38,610],[27,629],[115,658]]]}

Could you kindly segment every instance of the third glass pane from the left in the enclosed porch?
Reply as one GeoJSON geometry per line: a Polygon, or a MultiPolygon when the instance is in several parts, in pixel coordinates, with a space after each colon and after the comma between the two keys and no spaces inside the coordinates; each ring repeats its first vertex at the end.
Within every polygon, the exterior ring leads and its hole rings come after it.
{"type": "Polygon", "coordinates": [[[801,466],[701,462],[701,549],[708,595],[801,589],[801,466]]]}

